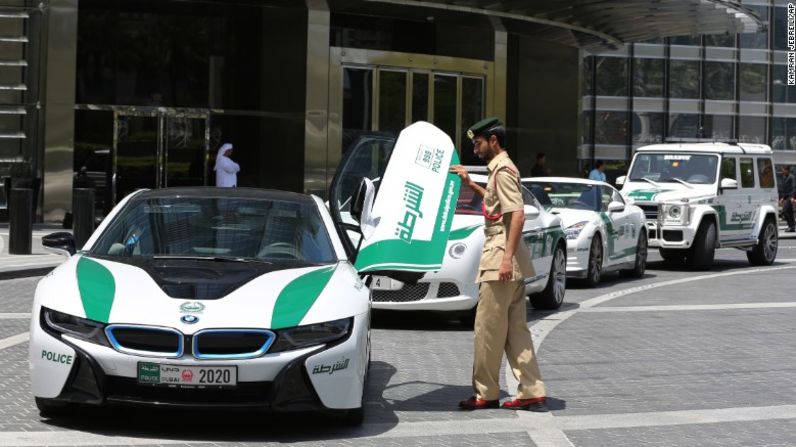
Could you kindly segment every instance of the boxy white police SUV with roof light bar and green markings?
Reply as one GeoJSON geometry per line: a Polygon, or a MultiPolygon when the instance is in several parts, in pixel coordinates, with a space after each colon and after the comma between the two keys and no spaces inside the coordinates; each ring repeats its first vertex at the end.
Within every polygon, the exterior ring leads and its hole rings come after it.
{"type": "Polygon", "coordinates": [[[649,245],[669,262],[706,270],[720,247],[746,251],[753,265],[776,258],[777,186],[768,146],[645,146],[617,184],[644,210],[649,245]]]}

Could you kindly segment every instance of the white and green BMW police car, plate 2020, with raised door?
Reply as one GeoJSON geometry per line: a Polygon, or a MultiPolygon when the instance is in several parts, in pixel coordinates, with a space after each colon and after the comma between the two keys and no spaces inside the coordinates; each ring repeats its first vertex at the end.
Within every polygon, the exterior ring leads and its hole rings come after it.
{"type": "Polygon", "coordinates": [[[363,276],[439,269],[450,232],[440,210],[455,206],[459,185],[448,173],[454,153],[430,124],[407,128],[378,194],[364,180],[352,199],[356,225],[345,228],[364,234],[354,250],[320,198],[248,188],[141,190],[79,251],[69,233],[45,237],[68,260],[35,292],[29,358],[40,411],[315,409],[360,423],[363,276]],[[438,172],[402,165],[418,142],[438,151],[438,172]],[[400,204],[407,186],[419,194],[400,204]]]}

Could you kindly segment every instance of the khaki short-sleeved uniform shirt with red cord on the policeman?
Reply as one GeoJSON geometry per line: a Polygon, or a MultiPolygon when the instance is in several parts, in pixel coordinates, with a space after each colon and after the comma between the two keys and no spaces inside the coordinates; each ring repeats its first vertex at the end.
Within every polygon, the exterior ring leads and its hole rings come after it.
{"type": "MultiPolygon", "coordinates": [[[[524,212],[520,175],[517,167],[506,152],[496,155],[486,167],[488,178],[484,194],[484,212],[488,216],[502,216],[496,220],[485,218],[484,249],[478,266],[476,282],[499,281],[500,263],[506,251],[506,237],[511,222],[508,213],[524,212]]],[[[514,253],[514,273],[512,280],[522,280],[535,276],[531,253],[520,238],[514,253]]]]}

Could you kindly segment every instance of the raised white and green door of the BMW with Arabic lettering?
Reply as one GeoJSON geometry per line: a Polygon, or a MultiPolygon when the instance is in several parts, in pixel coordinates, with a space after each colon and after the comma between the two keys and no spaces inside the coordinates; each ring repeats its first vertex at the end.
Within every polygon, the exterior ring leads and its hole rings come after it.
{"type": "Polygon", "coordinates": [[[329,209],[360,273],[415,282],[442,267],[460,186],[448,171],[458,163],[450,137],[423,121],[397,141],[374,134],[352,145],[329,209]]]}

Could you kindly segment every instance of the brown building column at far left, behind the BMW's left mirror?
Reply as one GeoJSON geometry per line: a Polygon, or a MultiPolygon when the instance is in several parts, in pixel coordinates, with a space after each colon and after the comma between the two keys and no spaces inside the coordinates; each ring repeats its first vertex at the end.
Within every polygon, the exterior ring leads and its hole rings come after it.
{"type": "Polygon", "coordinates": [[[74,163],[75,76],[77,74],[78,0],[50,0],[41,34],[42,64],[43,203],[45,222],[60,221],[72,209],[74,163]],[[46,37],[45,37],[46,36],[46,37]]]}

